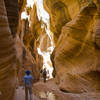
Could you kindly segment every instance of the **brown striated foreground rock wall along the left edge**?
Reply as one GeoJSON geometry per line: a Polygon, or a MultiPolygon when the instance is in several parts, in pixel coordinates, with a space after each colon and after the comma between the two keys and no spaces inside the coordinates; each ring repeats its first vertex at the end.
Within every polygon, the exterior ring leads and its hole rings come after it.
{"type": "MultiPolygon", "coordinates": [[[[7,0],[7,2],[9,1],[7,0]]],[[[9,5],[5,5],[4,0],[0,0],[0,100],[11,100],[13,98],[16,79],[16,51],[6,7],[9,7],[9,5]]],[[[8,12],[13,12],[13,10],[9,9],[8,12]]],[[[14,16],[12,14],[11,17],[17,19],[17,16],[14,16]]],[[[15,23],[14,26],[16,26],[15,23]]]]}

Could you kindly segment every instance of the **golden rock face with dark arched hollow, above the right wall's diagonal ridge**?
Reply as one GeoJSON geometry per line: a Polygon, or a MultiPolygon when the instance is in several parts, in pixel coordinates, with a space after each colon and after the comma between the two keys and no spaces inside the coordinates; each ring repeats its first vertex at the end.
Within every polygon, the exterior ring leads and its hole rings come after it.
{"type": "Polygon", "coordinates": [[[44,7],[50,15],[50,30],[54,33],[56,43],[62,26],[71,20],[71,16],[68,7],[60,0],[44,0],[44,7]]]}

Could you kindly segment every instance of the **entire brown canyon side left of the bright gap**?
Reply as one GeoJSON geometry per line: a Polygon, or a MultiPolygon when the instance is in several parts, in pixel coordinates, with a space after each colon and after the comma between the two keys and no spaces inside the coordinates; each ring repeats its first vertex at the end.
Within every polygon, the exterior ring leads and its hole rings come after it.
{"type": "MultiPolygon", "coordinates": [[[[26,0],[0,0],[0,100],[13,99],[16,77],[21,83],[26,69],[39,79],[43,60],[37,53],[36,33],[29,29],[27,20],[21,20],[25,4],[26,0]]],[[[33,13],[32,17],[36,11],[33,13]]],[[[35,25],[39,23],[36,21],[35,25]]],[[[40,24],[35,31],[39,29],[40,24]]]]}

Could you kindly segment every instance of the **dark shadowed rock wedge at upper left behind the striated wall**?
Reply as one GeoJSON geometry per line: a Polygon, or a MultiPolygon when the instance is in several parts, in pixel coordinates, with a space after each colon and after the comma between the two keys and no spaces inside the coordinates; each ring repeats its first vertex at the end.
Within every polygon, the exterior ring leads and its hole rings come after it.
{"type": "Polygon", "coordinates": [[[4,1],[11,34],[15,37],[18,25],[18,0],[11,0],[10,2],[8,2],[8,0],[4,1]]]}

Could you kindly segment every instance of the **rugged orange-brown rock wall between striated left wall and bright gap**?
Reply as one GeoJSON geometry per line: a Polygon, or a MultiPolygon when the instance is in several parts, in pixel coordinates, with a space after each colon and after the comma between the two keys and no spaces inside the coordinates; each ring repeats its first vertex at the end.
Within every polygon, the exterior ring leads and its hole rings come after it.
{"type": "Polygon", "coordinates": [[[27,69],[31,70],[35,80],[39,80],[40,69],[43,65],[43,58],[37,52],[40,35],[43,33],[41,21],[38,20],[37,16],[37,8],[36,5],[34,5],[33,8],[26,7],[25,9],[27,9],[27,13],[30,15],[30,20],[27,18],[19,19],[15,39],[19,62],[21,63],[18,69],[20,83],[27,69]]]}

